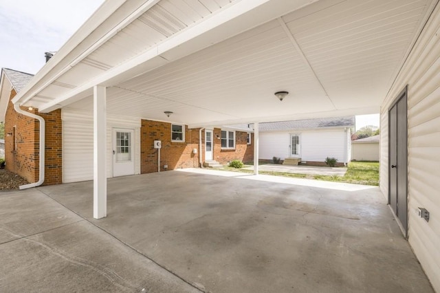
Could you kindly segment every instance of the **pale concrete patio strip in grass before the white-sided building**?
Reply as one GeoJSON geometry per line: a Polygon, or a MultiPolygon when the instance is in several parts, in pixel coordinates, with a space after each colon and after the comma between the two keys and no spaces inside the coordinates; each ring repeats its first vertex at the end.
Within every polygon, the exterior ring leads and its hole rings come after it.
{"type": "MultiPolygon", "coordinates": [[[[254,166],[243,168],[245,170],[254,170],[254,166]]],[[[325,167],[325,166],[288,166],[282,164],[263,164],[259,165],[260,171],[308,174],[308,175],[336,175],[344,176],[347,167],[325,167]]]]}

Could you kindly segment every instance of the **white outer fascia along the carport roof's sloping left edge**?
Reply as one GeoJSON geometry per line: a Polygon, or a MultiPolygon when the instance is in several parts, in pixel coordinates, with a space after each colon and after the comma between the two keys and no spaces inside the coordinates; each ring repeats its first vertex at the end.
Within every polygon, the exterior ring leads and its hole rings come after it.
{"type": "MultiPolygon", "coordinates": [[[[59,72],[52,72],[52,70],[61,63],[71,52],[74,50],[76,46],[78,46],[81,42],[83,42],[89,34],[94,32],[96,28],[98,28],[104,21],[106,21],[122,4],[124,4],[126,0],[107,0],[94,14],[89,17],[89,19],[81,25],[81,27],[76,31],[76,33],[63,45],[63,47],[54,54],[50,61],[45,63],[45,65],[35,74],[35,76],[30,80],[28,85],[25,85],[23,89],[21,89],[20,93],[17,94],[12,99],[12,102],[16,104],[19,102],[20,105],[24,103],[25,100],[29,100],[33,98],[39,91],[44,89],[47,85],[52,83],[52,76],[54,74],[58,74],[59,72]],[[52,76],[50,75],[52,73],[52,76]],[[50,80],[50,83],[47,82],[50,80]],[[43,85],[38,85],[39,83],[43,83],[43,85]],[[38,87],[34,89],[34,87],[38,87]],[[32,92],[31,90],[34,89],[32,92]]],[[[70,63],[69,63],[70,64],[70,63]]],[[[71,67],[69,65],[65,66],[61,72],[67,72],[71,67]]]]}

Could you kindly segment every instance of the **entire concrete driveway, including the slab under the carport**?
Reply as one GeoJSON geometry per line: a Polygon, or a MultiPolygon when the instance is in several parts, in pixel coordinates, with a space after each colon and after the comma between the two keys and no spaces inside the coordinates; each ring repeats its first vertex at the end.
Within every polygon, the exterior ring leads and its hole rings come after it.
{"type": "Polygon", "coordinates": [[[108,191],[100,220],[92,182],[0,194],[0,291],[433,292],[376,187],[194,169],[108,191]]]}

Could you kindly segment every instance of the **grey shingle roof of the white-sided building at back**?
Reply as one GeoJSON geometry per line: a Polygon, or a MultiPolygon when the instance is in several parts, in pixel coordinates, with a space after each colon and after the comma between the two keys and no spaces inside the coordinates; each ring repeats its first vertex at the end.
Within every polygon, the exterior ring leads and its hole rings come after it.
{"type": "Polygon", "coordinates": [[[259,124],[260,131],[282,131],[290,129],[316,129],[325,127],[354,127],[355,116],[337,118],[318,118],[307,120],[292,120],[268,122],[259,124]]]}

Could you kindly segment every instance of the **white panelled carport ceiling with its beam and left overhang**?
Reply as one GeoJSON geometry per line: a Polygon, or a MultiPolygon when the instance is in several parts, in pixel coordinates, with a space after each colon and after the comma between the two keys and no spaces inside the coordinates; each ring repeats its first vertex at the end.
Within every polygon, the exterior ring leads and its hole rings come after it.
{"type": "Polygon", "coordinates": [[[377,113],[436,1],[212,3],[106,1],[13,101],[91,111],[105,85],[109,113],[190,127],[377,113]]]}

